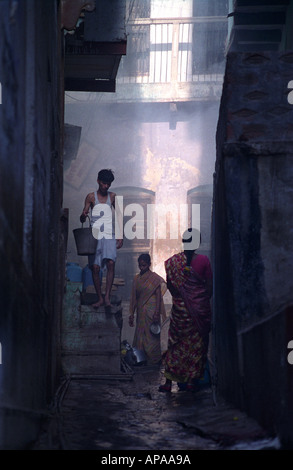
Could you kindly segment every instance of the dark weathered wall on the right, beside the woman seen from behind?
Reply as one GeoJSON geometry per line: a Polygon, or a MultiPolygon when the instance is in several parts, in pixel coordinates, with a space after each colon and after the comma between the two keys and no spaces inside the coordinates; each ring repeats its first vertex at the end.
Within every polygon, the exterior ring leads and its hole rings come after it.
{"type": "Polygon", "coordinates": [[[292,76],[291,52],[228,55],[213,215],[218,390],[291,444],[292,76]]]}

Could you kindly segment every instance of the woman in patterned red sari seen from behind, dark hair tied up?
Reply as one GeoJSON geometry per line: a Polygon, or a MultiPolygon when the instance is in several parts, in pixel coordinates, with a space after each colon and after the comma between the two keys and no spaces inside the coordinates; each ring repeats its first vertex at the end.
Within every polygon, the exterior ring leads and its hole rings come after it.
{"type": "Polygon", "coordinates": [[[184,251],[165,261],[172,311],[168,349],[163,354],[166,382],[159,387],[161,392],[170,392],[172,381],[180,389],[195,391],[195,380],[204,374],[211,324],[212,270],[208,257],[193,249],[199,240],[199,232],[188,229],[183,235],[184,251]]]}

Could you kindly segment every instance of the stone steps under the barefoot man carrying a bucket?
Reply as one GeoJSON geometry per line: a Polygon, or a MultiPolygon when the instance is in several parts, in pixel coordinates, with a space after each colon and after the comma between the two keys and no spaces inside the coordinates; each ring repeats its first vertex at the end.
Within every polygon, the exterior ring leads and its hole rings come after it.
{"type": "Polygon", "coordinates": [[[109,312],[86,305],[82,295],[82,283],[67,282],[61,327],[63,374],[71,378],[127,375],[121,363],[121,300],[111,296],[109,312]]]}

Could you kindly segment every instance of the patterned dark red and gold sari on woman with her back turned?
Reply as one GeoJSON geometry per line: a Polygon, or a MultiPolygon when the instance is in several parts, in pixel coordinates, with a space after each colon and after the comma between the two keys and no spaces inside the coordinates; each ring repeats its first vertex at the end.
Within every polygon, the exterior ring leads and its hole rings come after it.
{"type": "Polygon", "coordinates": [[[168,350],[163,354],[165,377],[184,383],[204,374],[211,306],[205,281],[186,268],[184,252],[169,258],[165,269],[173,301],[168,350]]]}

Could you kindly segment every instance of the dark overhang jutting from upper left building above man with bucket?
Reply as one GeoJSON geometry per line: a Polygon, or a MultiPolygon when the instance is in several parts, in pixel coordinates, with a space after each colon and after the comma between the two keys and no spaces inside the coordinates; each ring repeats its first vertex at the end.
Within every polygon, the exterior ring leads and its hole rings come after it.
{"type": "Polygon", "coordinates": [[[65,91],[115,92],[127,45],[125,0],[99,0],[65,33],[65,91]]]}

